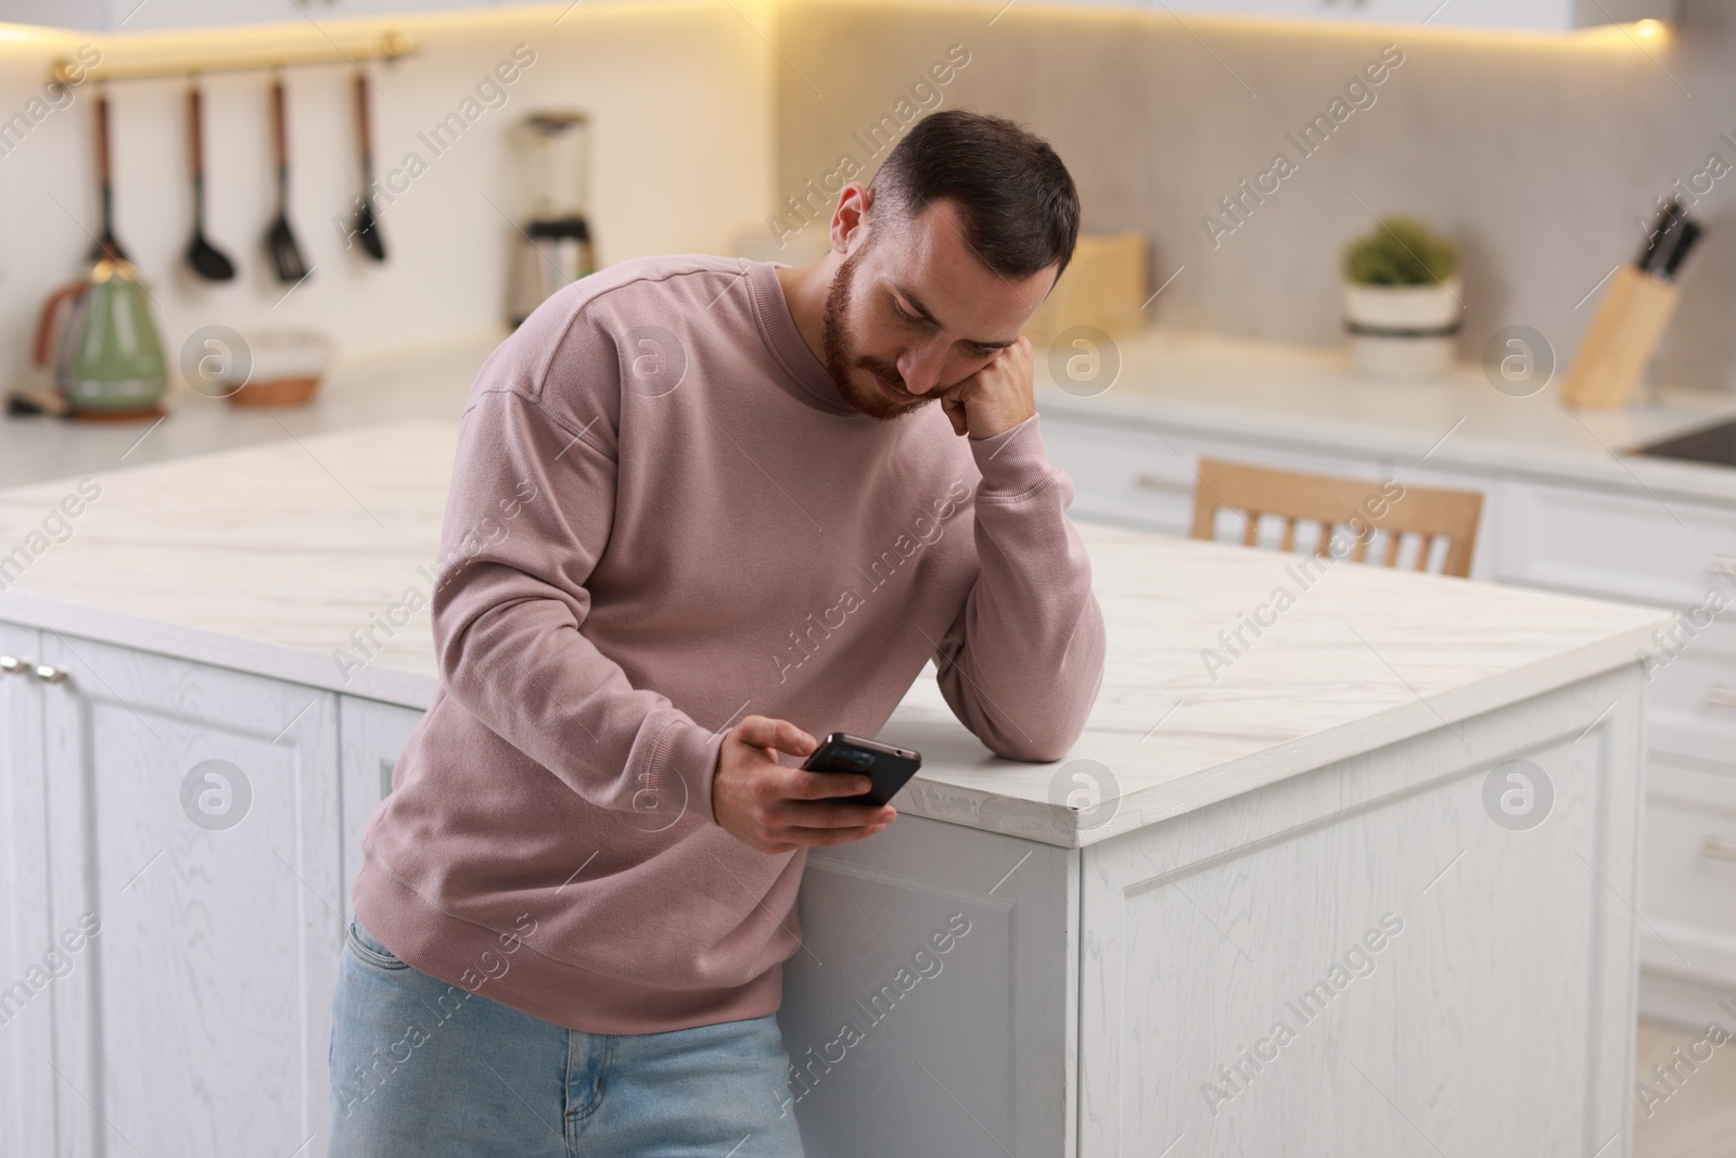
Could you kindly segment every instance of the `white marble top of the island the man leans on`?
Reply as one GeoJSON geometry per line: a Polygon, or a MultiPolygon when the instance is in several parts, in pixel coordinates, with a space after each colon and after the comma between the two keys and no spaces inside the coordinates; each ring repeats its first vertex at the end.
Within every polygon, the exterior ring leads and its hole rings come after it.
{"type": "MultiPolygon", "coordinates": [[[[71,535],[0,592],[0,620],[425,707],[425,611],[349,679],[333,649],[427,590],[455,444],[455,422],[408,422],[99,474],[71,535]]],[[[0,554],[73,490],[0,491],[0,554]]],[[[1061,764],[996,760],[922,679],[884,733],[925,753],[904,811],[1088,844],[1632,663],[1667,618],[1340,563],[1213,682],[1201,649],[1293,559],[1080,530],[1111,623],[1085,736],[1061,764]],[[1064,804],[1080,759],[1116,780],[1109,823],[1064,804]]]]}

